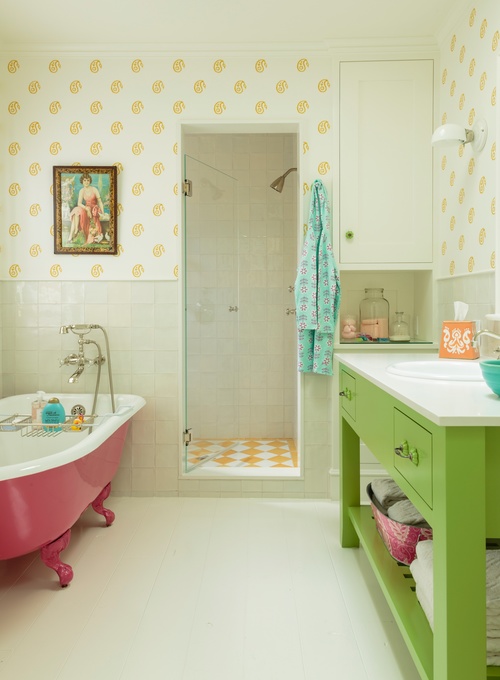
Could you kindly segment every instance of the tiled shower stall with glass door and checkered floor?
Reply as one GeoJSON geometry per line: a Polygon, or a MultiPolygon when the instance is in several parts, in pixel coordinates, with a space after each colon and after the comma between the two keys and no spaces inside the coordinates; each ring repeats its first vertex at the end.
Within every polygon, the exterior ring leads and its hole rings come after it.
{"type": "Polygon", "coordinates": [[[297,176],[281,193],[270,187],[295,166],[295,143],[283,134],[184,140],[186,473],[299,472],[297,176]]]}

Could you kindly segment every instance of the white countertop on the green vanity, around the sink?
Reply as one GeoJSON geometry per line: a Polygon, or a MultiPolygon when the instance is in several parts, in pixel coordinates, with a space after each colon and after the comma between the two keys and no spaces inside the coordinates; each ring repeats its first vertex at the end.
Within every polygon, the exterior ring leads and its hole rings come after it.
{"type": "MultiPolygon", "coordinates": [[[[449,361],[437,354],[411,352],[334,354],[338,371],[341,362],[359,375],[399,399],[436,425],[500,426],[500,397],[484,382],[460,382],[409,378],[387,372],[400,361],[449,361]]],[[[466,361],[466,360],[464,360],[466,361]]],[[[477,361],[477,360],[476,360],[477,361]]]]}

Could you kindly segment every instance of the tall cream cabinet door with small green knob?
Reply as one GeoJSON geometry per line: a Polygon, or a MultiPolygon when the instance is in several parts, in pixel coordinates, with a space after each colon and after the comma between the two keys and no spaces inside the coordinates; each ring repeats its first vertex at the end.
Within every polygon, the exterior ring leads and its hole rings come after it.
{"type": "Polygon", "coordinates": [[[432,262],[432,60],[340,64],[340,262],[432,262]]]}

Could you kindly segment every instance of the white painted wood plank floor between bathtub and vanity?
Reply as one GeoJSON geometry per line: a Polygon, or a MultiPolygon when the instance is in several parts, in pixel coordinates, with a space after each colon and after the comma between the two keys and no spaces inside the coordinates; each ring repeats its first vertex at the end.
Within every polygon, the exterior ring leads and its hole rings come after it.
{"type": "Polygon", "coordinates": [[[37,553],[0,562],[2,680],[418,680],[337,503],[110,498],[61,589],[37,553]]]}

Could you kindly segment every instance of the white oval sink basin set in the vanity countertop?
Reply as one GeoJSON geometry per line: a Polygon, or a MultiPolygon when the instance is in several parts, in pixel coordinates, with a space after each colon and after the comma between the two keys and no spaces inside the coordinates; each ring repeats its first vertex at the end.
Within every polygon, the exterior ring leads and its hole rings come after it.
{"type": "Polygon", "coordinates": [[[481,382],[479,361],[429,359],[428,361],[400,361],[387,367],[388,373],[423,380],[459,380],[481,382]]]}

